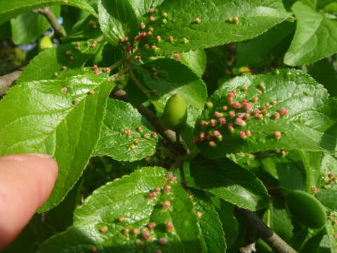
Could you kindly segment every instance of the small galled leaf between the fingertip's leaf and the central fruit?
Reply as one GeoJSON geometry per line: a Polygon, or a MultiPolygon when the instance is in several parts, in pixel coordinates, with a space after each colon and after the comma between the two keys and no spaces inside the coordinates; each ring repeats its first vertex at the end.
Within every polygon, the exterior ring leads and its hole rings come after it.
{"type": "Polygon", "coordinates": [[[152,136],[152,133],[153,126],[131,104],[109,99],[100,140],[93,155],[107,155],[117,161],[141,160],[156,152],[158,136],[152,136]],[[128,130],[131,134],[124,133],[128,130]]]}

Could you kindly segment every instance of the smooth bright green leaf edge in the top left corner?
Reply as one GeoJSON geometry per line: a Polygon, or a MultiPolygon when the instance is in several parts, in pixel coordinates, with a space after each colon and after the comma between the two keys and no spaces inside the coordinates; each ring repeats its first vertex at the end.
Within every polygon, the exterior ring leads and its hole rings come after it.
{"type": "Polygon", "coordinates": [[[20,13],[34,10],[45,6],[65,4],[74,6],[88,11],[94,16],[97,16],[95,10],[88,4],[86,0],[1,0],[0,1],[0,25],[11,18],[14,18],[20,13]]]}

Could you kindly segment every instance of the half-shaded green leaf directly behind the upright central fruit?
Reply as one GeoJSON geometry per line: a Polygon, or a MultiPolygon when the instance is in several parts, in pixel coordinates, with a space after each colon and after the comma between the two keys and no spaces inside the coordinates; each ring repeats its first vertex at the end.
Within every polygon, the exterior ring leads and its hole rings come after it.
{"type": "Polygon", "coordinates": [[[150,91],[157,91],[156,95],[150,96],[150,101],[159,114],[164,112],[165,104],[173,94],[183,96],[187,103],[187,126],[194,126],[204,108],[207,89],[190,68],[177,60],[159,59],[141,65],[135,74],[150,91]],[[157,72],[157,77],[153,76],[154,72],[157,72]]]}

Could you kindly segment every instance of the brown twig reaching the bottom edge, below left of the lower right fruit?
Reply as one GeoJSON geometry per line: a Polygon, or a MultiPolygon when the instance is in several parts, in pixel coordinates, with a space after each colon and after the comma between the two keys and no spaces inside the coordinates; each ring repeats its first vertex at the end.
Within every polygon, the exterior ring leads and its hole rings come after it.
{"type": "Polygon", "coordinates": [[[277,253],[297,253],[279,235],[268,228],[256,213],[240,207],[236,207],[235,210],[244,219],[247,229],[250,230],[249,234],[253,235],[251,240],[255,241],[257,238],[261,238],[277,253]],[[257,238],[253,238],[254,236],[257,238]]]}

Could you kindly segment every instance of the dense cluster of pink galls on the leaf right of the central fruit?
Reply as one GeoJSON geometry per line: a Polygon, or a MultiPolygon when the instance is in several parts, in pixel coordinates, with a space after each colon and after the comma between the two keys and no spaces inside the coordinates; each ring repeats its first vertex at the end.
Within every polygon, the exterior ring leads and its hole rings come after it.
{"type": "MultiPolygon", "coordinates": [[[[251,130],[248,128],[248,122],[250,120],[264,120],[268,119],[279,119],[280,117],[285,117],[289,114],[286,108],[280,108],[278,111],[270,112],[274,106],[277,104],[276,101],[270,101],[270,103],[265,103],[263,105],[257,105],[258,95],[263,94],[265,89],[265,83],[260,82],[258,84],[258,94],[251,100],[247,100],[246,95],[241,96],[243,99],[236,100],[235,97],[237,93],[246,93],[248,87],[244,86],[239,91],[233,89],[230,93],[225,95],[227,103],[224,103],[219,108],[214,108],[213,103],[207,102],[206,108],[210,110],[210,114],[213,118],[207,121],[206,119],[201,119],[199,124],[201,130],[199,132],[199,138],[194,138],[192,141],[194,145],[197,143],[204,143],[208,141],[211,147],[216,146],[218,141],[223,140],[223,133],[225,129],[229,131],[232,135],[237,135],[239,138],[246,139],[252,136],[251,130]]],[[[275,131],[274,137],[278,140],[281,138],[281,132],[275,131]]]]}

